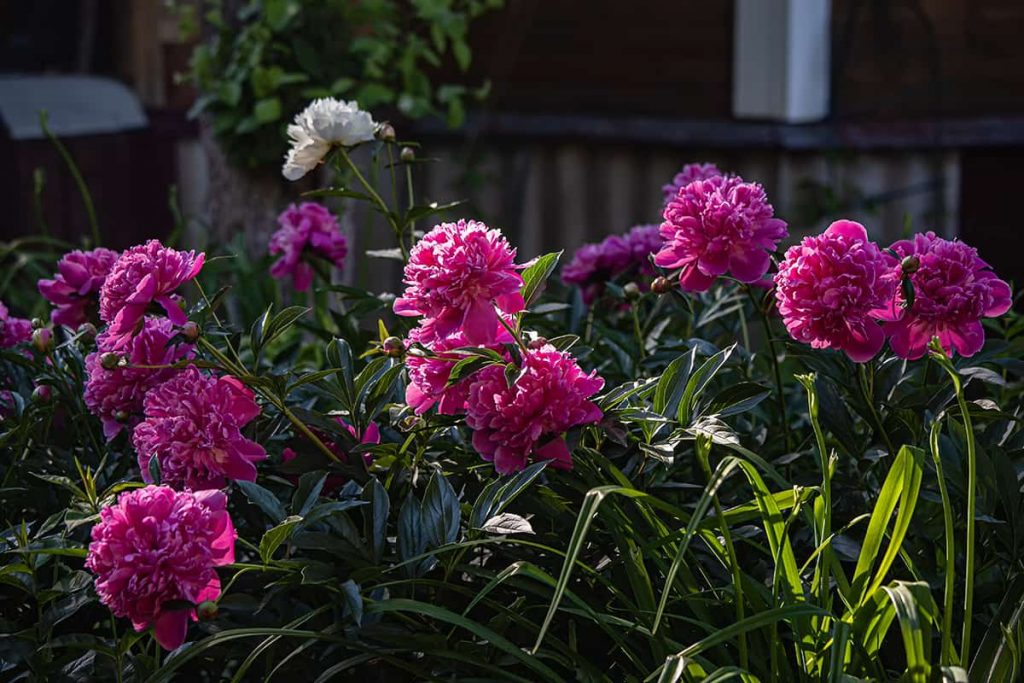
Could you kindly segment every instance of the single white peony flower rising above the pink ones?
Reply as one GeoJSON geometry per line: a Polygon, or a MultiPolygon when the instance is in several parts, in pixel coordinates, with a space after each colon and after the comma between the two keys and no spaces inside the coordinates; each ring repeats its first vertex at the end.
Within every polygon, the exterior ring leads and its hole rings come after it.
{"type": "Polygon", "coordinates": [[[353,147],[374,139],[376,130],[373,117],[360,111],[354,100],[314,99],[288,127],[292,148],[285,156],[282,173],[289,180],[298,180],[316,168],[332,145],[353,147]]]}

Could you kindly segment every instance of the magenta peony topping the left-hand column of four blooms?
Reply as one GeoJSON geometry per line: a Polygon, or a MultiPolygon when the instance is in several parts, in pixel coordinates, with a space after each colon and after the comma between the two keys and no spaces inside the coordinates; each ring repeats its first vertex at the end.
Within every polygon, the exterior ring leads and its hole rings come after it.
{"type": "Polygon", "coordinates": [[[157,240],[132,247],[114,264],[99,290],[99,318],[120,344],[135,331],[152,304],[159,304],[174,325],[188,319],[175,291],[203,268],[205,254],[175,251],[157,240]]]}

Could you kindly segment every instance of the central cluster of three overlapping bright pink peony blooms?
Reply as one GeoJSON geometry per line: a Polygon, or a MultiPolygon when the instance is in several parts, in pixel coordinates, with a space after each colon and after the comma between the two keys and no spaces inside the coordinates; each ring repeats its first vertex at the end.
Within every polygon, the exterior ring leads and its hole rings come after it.
{"type": "MultiPolygon", "coordinates": [[[[628,250],[627,250],[628,252],[628,250]]],[[[515,251],[498,230],[476,221],[442,223],[414,247],[406,266],[406,292],[395,312],[423,315],[409,344],[407,402],[417,414],[466,413],[473,444],[500,473],[526,466],[530,456],[572,465],[564,432],[596,422],[601,411],[588,400],[603,380],[586,375],[575,359],[550,345],[523,351],[518,379],[509,385],[504,364],[495,364],[449,385],[462,347],[485,347],[509,356],[515,313],[525,307],[515,251]]]]}

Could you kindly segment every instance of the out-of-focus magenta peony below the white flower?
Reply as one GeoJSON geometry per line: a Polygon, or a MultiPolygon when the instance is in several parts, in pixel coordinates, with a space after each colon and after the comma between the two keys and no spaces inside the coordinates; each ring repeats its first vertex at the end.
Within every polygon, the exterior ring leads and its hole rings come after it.
{"type": "Polygon", "coordinates": [[[348,242],[341,233],[338,219],[315,202],[292,204],[278,216],[281,226],[270,237],[270,254],[281,254],[270,274],[284,279],[291,275],[292,285],[300,292],[309,289],[313,269],[303,255],[321,256],[341,268],[348,253],[348,242]]]}

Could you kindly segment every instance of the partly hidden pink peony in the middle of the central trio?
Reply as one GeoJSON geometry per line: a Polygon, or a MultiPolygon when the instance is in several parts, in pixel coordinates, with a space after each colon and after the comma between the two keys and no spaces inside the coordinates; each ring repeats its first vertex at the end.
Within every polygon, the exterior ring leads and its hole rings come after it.
{"type": "MultiPolygon", "coordinates": [[[[508,324],[511,327],[514,322],[508,321],[508,324]]],[[[406,356],[406,368],[409,371],[406,402],[417,415],[430,410],[434,403],[437,403],[437,412],[441,415],[464,413],[466,399],[469,397],[471,378],[467,377],[450,387],[446,385],[455,364],[469,357],[465,354],[454,353],[453,349],[472,346],[472,344],[466,341],[466,336],[461,331],[443,339],[428,340],[427,342],[422,341],[425,336],[423,328],[414,328],[409,333],[411,344],[420,342],[427,346],[434,355],[419,356],[411,353],[406,356]]],[[[502,352],[501,345],[513,341],[512,335],[499,323],[498,330],[495,331],[495,343],[489,344],[487,348],[502,352]]]]}

